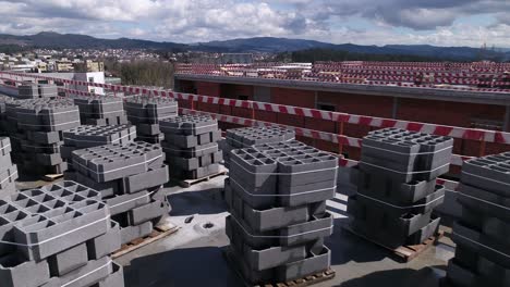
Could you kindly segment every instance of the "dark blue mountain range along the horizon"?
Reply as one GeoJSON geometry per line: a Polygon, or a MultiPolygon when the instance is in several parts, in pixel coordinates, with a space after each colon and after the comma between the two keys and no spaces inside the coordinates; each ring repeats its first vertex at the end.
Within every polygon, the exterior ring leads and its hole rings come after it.
{"type": "Polygon", "coordinates": [[[406,54],[427,58],[470,61],[479,59],[481,54],[488,59],[510,60],[510,49],[497,51],[472,47],[435,47],[429,45],[387,45],[362,46],[353,43],[335,45],[315,40],[288,39],[275,37],[255,37],[223,41],[196,43],[158,42],[139,39],[100,39],[86,35],[58,34],[42,32],[31,36],[0,34],[0,46],[20,46],[49,49],[154,49],[168,51],[204,51],[204,52],[270,52],[299,51],[306,49],[331,49],[367,54],[406,54]]]}

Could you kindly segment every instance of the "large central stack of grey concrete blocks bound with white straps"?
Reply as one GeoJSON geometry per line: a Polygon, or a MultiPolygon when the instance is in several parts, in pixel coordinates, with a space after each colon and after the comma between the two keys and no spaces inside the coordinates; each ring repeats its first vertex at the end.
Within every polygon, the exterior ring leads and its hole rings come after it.
{"type": "Polygon", "coordinates": [[[226,229],[247,283],[284,283],[330,267],[326,200],[335,197],[337,172],[338,157],[295,140],[232,151],[226,229]]]}

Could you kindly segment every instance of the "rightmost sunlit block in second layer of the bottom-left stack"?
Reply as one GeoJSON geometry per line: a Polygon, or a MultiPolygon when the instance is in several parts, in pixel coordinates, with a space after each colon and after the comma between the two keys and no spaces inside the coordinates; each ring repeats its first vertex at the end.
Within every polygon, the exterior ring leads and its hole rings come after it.
{"type": "Polygon", "coordinates": [[[88,240],[87,253],[90,260],[98,260],[121,249],[121,232],[119,223],[111,221],[111,227],[104,235],[88,240]]]}

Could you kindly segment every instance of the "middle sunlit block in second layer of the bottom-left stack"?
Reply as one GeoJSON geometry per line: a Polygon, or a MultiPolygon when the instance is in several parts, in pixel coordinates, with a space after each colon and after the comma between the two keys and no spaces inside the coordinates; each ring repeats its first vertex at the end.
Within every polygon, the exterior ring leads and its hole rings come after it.
{"type": "Polygon", "coordinates": [[[87,246],[85,244],[77,245],[48,258],[52,277],[63,276],[73,270],[85,266],[87,262],[87,246]]]}

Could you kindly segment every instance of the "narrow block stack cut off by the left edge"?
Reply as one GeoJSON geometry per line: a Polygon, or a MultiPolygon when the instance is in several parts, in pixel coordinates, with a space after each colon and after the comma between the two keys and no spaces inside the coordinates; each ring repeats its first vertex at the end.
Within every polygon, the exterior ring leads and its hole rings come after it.
{"type": "Polygon", "coordinates": [[[0,137],[0,199],[16,191],[17,167],[11,161],[11,140],[0,137]]]}

